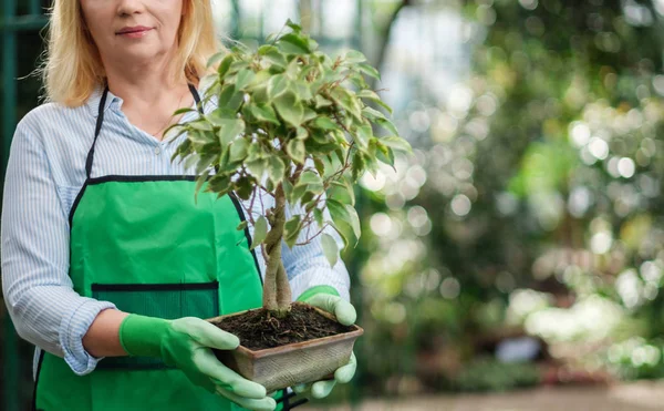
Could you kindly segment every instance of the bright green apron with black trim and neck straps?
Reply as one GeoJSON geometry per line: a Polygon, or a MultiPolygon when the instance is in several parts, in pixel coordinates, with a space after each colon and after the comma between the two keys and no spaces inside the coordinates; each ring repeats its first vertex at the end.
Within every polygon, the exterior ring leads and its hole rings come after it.
{"type": "MultiPolygon", "coordinates": [[[[123,311],[166,319],[260,307],[260,270],[248,229],[237,229],[245,216],[234,195],[217,199],[201,191],[195,202],[189,176],[91,177],[107,92],[87,154],[87,178],[70,214],[74,290],[123,311]]],[[[34,409],[240,410],[160,360],[105,358],[80,377],[48,352],[38,366],[34,409]]]]}

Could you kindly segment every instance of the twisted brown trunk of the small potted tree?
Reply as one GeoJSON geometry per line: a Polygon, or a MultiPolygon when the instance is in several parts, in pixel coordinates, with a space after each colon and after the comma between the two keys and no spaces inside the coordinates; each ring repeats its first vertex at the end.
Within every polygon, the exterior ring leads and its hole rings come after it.
{"type": "Polygon", "coordinates": [[[291,307],[291,289],[281,260],[281,244],[286,225],[286,195],[281,184],[274,193],[274,208],[269,215],[270,232],[264,240],[267,258],[263,285],[263,308],[271,315],[283,318],[291,307]]]}

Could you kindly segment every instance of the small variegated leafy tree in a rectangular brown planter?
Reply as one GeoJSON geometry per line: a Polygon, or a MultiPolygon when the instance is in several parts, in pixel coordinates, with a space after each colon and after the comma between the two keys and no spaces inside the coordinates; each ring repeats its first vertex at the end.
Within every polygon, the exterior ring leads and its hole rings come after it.
{"type": "Polygon", "coordinates": [[[284,319],[303,311],[298,315],[309,316],[305,323],[326,321],[331,329],[326,337],[289,346],[249,349],[242,342],[231,353],[217,352],[227,366],[268,391],[330,374],[347,362],[354,340],[362,333],[360,327],[343,327],[328,312],[291,302],[282,242],[297,247],[300,233],[308,233],[303,243],[322,236],[324,254],[334,265],[340,250],[323,229],[336,229],[346,247],[347,238],[356,242],[361,230],[353,207],[354,184],[365,172],[375,173],[378,162],[393,165],[394,151],[409,151],[383,112],[366,104],[372,102],[391,113],[365,81],[365,75],[380,76],[365,56],[349,51],[332,59],[298,24],[289,20],[287,27],[287,33],[271,35],[268,44],[256,51],[240,44],[210,59],[209,66],[217,70],[204,79],[204,101],[214,97],[219,106],[175,125],[178,135],[186,132],[188,138],[173,157],[196,165],[197,193],[205,187],[251,204],[246,209],[249,222],[238,229],[248,223],[255,227],[251,247],[261,247],[267,267],[261,309],[209,321],[219,326],[234,319],[243,322],[242,316],[259,316],[270,333],[273,319],[287,323],[284,319]],[[378,126],[390,134],[374,135],[378,126]],[[252,206],[259,189],[273,196],[274,206],[256,217],[252,206]],[[287,205],[302,213],[287,220],[287,205]],[[325,218],[325,209],[331,219],[325,218]]]}

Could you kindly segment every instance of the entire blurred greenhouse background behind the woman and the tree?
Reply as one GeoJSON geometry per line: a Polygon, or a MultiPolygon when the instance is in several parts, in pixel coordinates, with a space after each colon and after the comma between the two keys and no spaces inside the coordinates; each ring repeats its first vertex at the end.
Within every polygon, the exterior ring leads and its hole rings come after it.
{"type": "MultiPolygon", "coordinates": [[[[49,1],[2,1],[4,168],[49,1]]],[[[360,368],[310,409],[661,409],[664,0],[212,2],[228,39],[291,18],[364,52],[414,147],[357,187],[360,368]]],[[[0,409],[27,410],[0,321],[0,409]]]]}

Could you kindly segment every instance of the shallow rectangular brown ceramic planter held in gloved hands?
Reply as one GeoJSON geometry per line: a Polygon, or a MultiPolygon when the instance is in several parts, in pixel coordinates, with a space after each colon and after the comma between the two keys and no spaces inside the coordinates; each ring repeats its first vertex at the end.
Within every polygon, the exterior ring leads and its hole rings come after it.
{"type": "MultiPolygon", "coordinates": [[[[329,312],[313,308],[336,321],[329,312]]],[[[215,317],[208,321],[216,322],[245,312],[248,311],[215,317]]],[[[262,384],[268,392],[273,392],[299,383],[329,378],[338,368],[349,362],[355,340],[363,332],[361,327],[353,326],[352,331],[310,341],[256,351],[240,346],[234,351],[215,350],[215,353],[226,367],[262,384]]]]}

